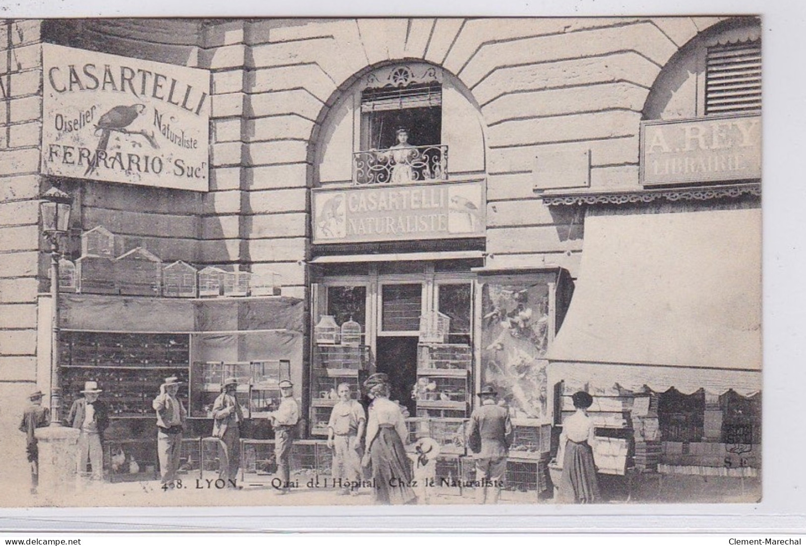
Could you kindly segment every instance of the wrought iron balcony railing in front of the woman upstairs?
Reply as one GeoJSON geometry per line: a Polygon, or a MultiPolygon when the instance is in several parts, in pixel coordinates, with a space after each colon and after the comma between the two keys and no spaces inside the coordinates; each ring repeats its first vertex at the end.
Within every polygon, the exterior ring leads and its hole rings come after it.
{"type": "Polygon", "coordinates": [[[448,147],[405,146],[353,153],[353,182],[405,184],[424,180],[447,180],[448,147]]]}

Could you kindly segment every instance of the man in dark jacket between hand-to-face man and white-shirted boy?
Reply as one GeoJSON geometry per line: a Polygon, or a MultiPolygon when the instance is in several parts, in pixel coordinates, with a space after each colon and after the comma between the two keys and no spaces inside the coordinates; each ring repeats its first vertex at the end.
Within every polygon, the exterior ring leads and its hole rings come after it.
{"type": "Polygon", "coordinates": [[[228,378],[224,391],[213,404],[213,436],[218,438],[218,478],[229,483],[238,476],[241,465],[241,424],[243,409],[235,391],[238,379],[228,378]]]}

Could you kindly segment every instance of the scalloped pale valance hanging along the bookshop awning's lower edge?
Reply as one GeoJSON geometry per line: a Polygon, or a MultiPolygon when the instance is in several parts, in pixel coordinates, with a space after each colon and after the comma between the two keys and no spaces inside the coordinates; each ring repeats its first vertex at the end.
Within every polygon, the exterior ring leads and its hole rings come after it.
{"type": "Polygon", "coordinates": [[[642,366],[638,364],[593,364],[590,362],[550,362],[548,383],[565,382],[566,391],[588,391],[612,395],[613,387],[642,392],[666,392],[671,387],[684,395],[704,389],[712,395],[723,395],[733,389],[742,396],[761,391],[760,370],[725,370],[717,368],[683,368],[680,366],[642,366]]]}

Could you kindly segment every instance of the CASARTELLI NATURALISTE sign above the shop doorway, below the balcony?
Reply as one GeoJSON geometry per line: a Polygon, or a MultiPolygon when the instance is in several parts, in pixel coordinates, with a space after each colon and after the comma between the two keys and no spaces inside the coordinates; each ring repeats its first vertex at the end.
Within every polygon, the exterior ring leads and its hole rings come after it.
{"type": "Polygon", "coordinates": [[[314,189],[314,243],[484,235],[481,181],[314,189]]]}

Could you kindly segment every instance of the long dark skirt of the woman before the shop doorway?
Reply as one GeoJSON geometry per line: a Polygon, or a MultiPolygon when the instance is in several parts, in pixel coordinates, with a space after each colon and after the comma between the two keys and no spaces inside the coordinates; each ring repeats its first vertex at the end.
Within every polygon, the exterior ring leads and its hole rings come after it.
{"type": "Polygon", "coordinates": [[[375,480],[374,498],[378,504],[414,503],[417,496],[411,487],[409,457],[403,441],[394,428],[381,427],[369,452],[372,461],[372,478],[375,480]]]}

